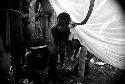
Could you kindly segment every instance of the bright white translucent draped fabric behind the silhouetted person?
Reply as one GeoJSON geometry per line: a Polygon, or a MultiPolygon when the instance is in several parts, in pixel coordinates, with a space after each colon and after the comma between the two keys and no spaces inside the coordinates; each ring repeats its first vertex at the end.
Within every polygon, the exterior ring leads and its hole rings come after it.
{"type": "MultiPolygon", "coordinates": [[[[90,0],[49,0],[57,15],[67,12],[75,22],[81,22],[90,0]]],[[[87,24],[73,29],[83,45],[97,57],[120,69],[125,69],[125,24],[123,11],[116,0],[95,0],[87,24]]]]}

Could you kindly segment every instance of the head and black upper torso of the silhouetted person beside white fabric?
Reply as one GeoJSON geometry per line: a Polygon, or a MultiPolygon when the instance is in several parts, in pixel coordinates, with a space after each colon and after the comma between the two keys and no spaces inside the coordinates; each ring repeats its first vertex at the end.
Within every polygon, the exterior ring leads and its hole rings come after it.
{"type": "Polygon", "coordinates": [[[60,13],[57,17],[57,25],[52,29],[52,34],[56,43],[61,43],[69,39],[70,28],[68,27],[71,19],[68,13],[60,13]]]}

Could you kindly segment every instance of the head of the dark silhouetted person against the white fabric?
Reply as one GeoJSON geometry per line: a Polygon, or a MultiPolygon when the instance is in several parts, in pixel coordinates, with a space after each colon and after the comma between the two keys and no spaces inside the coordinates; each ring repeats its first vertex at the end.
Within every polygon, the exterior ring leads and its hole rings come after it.
{"type": "Polygon", "coordinates": [[[66,12],[62,12],[57,17],[58,24],[66,25],[68,26],[71,22],[70,15],[66,12]]]}

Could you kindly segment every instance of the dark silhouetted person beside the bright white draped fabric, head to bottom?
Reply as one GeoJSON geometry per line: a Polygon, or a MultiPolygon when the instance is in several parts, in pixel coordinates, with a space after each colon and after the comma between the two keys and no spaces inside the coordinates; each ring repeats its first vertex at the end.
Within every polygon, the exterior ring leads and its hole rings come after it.
{"type": "MultiPolygon", "coordinates": [[[[60,13],[57,17],[57,25],[52,28],[52,35],[55,43],[55,60],[53,65],[53,76],[55,81],[62,81],[60,84],[68,84],[66,81],[73,79],[74,84],[81,82],[79,77],[84,75],[84,56],[85,52],[82,52],[83,46],[78,39],[72,38],[69,40],[70,28],[70,15],[68,13],[60,13]],[[83,55],[82,55],[83,54],[83,55]],[[83,66],[81,66],[83,65],[83,66]],[[54,73],[55,72],[55,73],[54,73]],[[78,78],[78,80],[76,79],[78,78]]],[[[56,84],[56,83],[55,83],[56,84]]],[[[57,83],[58,84],[58,83],[57,83]]]]}

